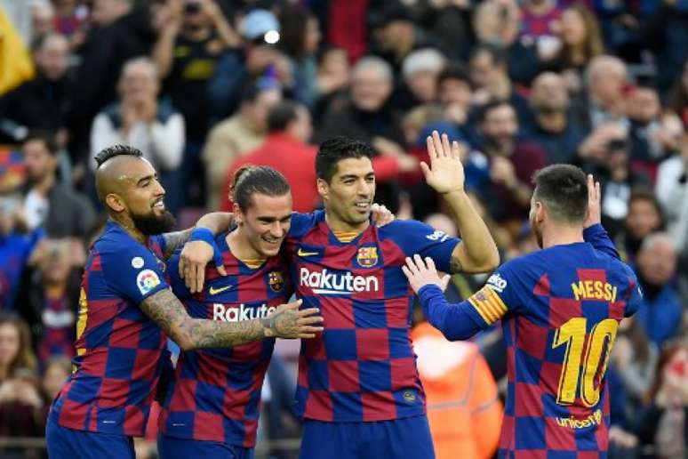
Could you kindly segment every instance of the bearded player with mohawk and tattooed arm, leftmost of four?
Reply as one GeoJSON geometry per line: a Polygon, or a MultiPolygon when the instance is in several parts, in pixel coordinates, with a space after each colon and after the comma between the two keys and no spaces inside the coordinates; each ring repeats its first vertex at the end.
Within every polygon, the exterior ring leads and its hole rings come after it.
{"type": "MultiPolygon", "coordinates": [[[[139,150],[115,146],[96,160],[96,189],[109,220],[84,269],[75,370],[48,416],[48,454],[56,458],[134,457],[132,437],[143,435],[170,362],[167,336],[182,350],[293,338],[310,333],[303,318],[316,312],[298,311],[294,302],[243,322],[190,318],[164,271],[166,255],[192,231],[165,233],[173,218],[164,189],[139,150]]],[[[202,222],[212,232],[228,226],[226,215],[202,222]]]]}

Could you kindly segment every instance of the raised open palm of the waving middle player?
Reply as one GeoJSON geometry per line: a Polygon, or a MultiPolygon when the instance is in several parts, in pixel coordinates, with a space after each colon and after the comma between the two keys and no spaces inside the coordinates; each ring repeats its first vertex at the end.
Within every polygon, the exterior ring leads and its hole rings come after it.
{"type": "Polygon", "coordinates": [[[459,142],[450,145],[447,134],[440,138],[437,131],[428,135],[428,155],[430,165],[422,162],[420,168],[425,180],[440,194],[463,190],[464,173],[460,158],[459,142]]]}

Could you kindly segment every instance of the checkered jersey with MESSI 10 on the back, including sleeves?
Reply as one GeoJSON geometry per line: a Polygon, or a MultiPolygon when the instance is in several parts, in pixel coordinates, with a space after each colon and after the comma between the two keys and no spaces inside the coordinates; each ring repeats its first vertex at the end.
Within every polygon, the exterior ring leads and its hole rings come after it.
{"type": "Polygon", "coordinates": [[[420,289],[430,323],[445,335],[468,330],[466,322],[475,333],[501,319],[508,390],[500,457],[606,456],[604,373],[619,323],[636,312],[642,294],[602,226],[584,235],[588,242],[504,263],[459,305],[439,306],[436,286],[420,289]]]}

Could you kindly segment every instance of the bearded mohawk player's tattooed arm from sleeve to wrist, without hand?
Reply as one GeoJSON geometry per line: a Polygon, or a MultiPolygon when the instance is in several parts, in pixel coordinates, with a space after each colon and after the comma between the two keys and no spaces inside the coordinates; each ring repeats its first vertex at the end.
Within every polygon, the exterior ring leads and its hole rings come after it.
{"type": "Polygon", "coordinates": [[[260,319],[228,323],[191,318],[168,289],[149,296],[140,308],[182,348],[223,348],[263,338],[260,319]]]}

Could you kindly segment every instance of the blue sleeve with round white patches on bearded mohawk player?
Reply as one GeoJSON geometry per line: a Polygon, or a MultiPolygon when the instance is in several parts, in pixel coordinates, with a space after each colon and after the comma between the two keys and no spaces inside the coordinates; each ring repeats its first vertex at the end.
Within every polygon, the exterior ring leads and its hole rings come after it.
{"type": "Polygon", "coordinates": [[[100,253],[108,286],[116,294],[134,304],[169,288],[156,256],[146,246],[121,244],[107,247],[100,253]]]}

